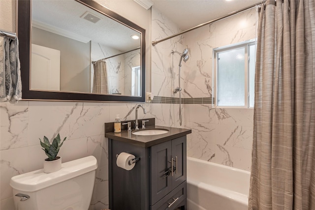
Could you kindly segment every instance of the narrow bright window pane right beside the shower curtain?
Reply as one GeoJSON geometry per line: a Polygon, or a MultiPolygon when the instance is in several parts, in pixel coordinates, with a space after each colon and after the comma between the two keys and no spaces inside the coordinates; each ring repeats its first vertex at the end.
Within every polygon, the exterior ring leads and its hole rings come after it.
{"type": "Polygon", "coordinates": [[[249,93],[250,93],[250,107],[254,107],[255,96],[255,63],[256,63],[256,47],[255,45],[249,46],[249,93]]]}

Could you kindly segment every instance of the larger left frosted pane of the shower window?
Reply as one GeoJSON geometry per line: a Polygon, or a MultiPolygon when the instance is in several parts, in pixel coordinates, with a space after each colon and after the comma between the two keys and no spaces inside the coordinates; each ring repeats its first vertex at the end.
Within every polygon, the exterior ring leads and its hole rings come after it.
{"type": "Polygon", "coordinates": [[[218,53],[217,105],[245,106],[245,47],[218,53]]]}

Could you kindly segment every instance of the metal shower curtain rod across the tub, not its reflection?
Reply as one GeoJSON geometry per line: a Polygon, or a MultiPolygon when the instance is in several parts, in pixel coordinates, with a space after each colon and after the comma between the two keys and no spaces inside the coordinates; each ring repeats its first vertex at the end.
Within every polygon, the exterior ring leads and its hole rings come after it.
{"type": "Polygon", "coordinates": [[[213,22],[222,20],[222,19],[227,18],[227,17],[229,17],[229,16],[232,16],[232,15],[235,15],[235,14],[237,14],[237,13],[243,12],[243,11],[245,11],[245,10],[251,9],[251,8],[255,7],[256,5],[258,5],[258,4],[262,4],[262,3],[265,3],[265,2],[266,2],[266,0],[262,0],[262,1],[258,2],[258,3],[252,4],[251,6],[247,6],[247,7],[243,8],[243,9],[236,10],[236,11],[234,11],[234,12],[231,12],[231,13],[227,14],[227,15],[221,16],[220,18],[216,18],[216,19],[214,19],[214,20],[211,20],[211,21],[208,21],[208,22],[206,22],[206,23],[200,24],[200,25],[198,25],[198,26],[192,27],[192,28],[190,28],[190,29],[188,29],[188,30],[184,30],[184,31],[182,31],[182,32],[176,33],[176,34],[174,34],[174,35],[168,36],[168,37],[163,38],[163,39],[158,40],[158,41],[152,41],[152,45],[153,45],[153,46],[156,46],[158,43],[160,43],[160,42],[162,42],[162,41],[165,41],[165,40],[167,40],[167,39],[173,38],[173,37],[175,37],[175,36],[179,36],[179,35],[181,35],[181,34],[183,34],[183,33],[187,33],[187,32],[189,32],[190,30],[195,30],[195,29],[198,29],[198,28],[200,28],[200,27],[209,25],[209,24],[211,24],[211,23],[213,23],[213,22]]]}

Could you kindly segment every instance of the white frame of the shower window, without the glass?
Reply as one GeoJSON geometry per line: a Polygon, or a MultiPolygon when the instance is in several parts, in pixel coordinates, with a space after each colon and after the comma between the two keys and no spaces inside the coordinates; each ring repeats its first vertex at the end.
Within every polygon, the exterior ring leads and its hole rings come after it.
{"type": "MultiPolygon", "coordinates": [[[[231,44],[231,45],[227,45],[227,46],[223,46],[223,47],[218,47],[213,49],[213,97],[215,99],[214,102],[212,102],[212,104],[214,104],[214,107],[216,108],[248,108],[248,109],[252,109],[253,107],[250,107],[250,91],[249,91],[249,86],[250,86],[250,81],[249,81],[249,63],[250,63],[250,56],[249,56],[249,48],[252,45],[256,45],[256,40],[255,39],[251,39],[251,40],[247,40],[247,41],[243,41],[243,42],[239,42],[239,43],[235,43],[235,44],[231,44]],[[244,106],[218,106],[217,104],[217,95],[218,95],[218,88],[217,88],[217,83],[218,83],[218,53],[224,52],[224,51],[229,51],[229,50],[235,50],[235,49],[239,49],[239,48],[243,48],[245,47],[245,66],[244,66],[244,74],[245,74],[245,91],[244,91],[244,98],[245,98],[245,105],[244,106]],[[247,60],[247,62],[246,62],[247,60]]],[[[252,58],[255,61],[255,58],[252,58]]]]}

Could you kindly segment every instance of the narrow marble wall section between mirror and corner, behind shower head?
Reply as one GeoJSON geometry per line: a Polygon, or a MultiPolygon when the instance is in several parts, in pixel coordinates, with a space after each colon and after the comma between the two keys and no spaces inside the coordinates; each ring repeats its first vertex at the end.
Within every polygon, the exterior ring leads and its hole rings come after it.
{"type": "MultiPolygon", "coordinates": [[[[159,40],[180,32],[181,30],[153,5],[151,39],[159,40]]],[[[171,51],[182,52],[186,47],[183,44],[184,36],[178,36],[151,48],[151,91],[154,96],[179,97],[173,90],[178,87],[178,62],[180,55],[171,54],[171,51]]],[[[151,44],[151,43],[150,43],[151,44]]],[[[183,67],[184,68],[184,62],[183,67]]],[[[181,78],[181,87],[184,89],[184,80],[181,78]]],[[[183,91],[182,91],[183,92],[183,91]]],[[[185,97],[185,94],[182,94],[185,97]]],[[[179,124],[179,104],[151,104],[153,113],[157,114],[156,124],[165,126],[182,126],[179,124]],[[158,114],[160,113],[160,115],[158,114]]],[[[184,106],[182,106],[184,112],[184,106]]]]}

